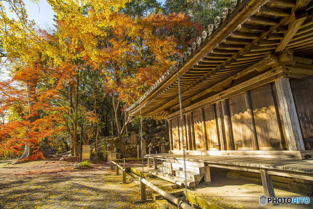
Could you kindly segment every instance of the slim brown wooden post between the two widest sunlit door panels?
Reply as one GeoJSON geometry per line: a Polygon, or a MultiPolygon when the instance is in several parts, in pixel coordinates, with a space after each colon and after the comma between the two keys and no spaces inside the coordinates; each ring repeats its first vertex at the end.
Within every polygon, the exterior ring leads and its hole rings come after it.
{"type": "Polygon", "coordinates": [[[249,91],[244,92],[244,98],[246,100],[247,111],[248,111],[248,114],[249,114],[249,123],[250,123],[250,133],[251,133],[252,148],[253,148],[253,150],[259,150],[258,138],[256,136],[254,116],[253,116],[253,110],[252,110],[252,104],[251,104],[250,92],[249,91]]]}

